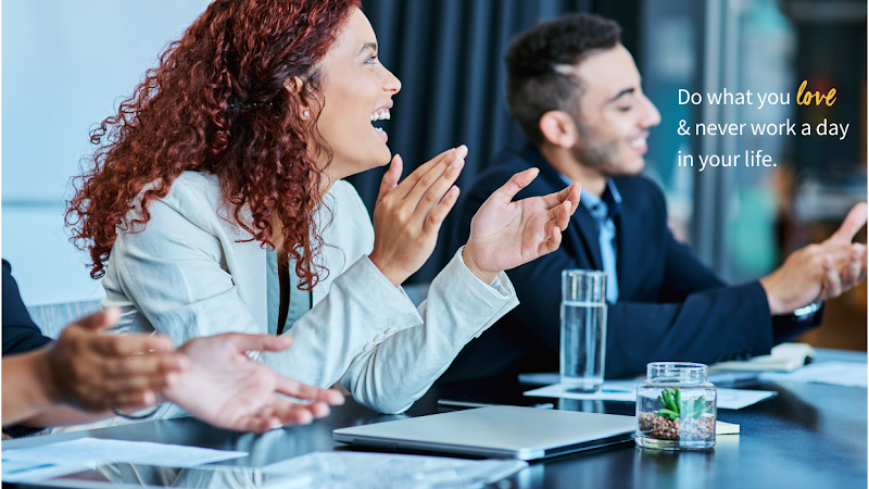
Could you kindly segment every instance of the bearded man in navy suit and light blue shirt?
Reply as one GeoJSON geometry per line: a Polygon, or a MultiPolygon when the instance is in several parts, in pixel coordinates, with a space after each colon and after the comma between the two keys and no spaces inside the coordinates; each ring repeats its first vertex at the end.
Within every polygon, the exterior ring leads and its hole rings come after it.
{"type": "MultiPolygon", "coordinates": [[[[791,254],[758,281],[728,286],[677,241],[660,189],[640,173],[648,128],[660,115],[645,98],[615,22],[571,15],[511,45],[507,103],[530,145],[502,152],[458,203],[453,249],[470,218],[513,174],[540,168],[516,197],[579,181],[579,209],[557,251],[507,272],[521,304],[465,347],[441,381],[558,369],[561,273],[604,269],[606,377],[641,374],[652,361],[714,363],[769,353],[820,324],[819,301],[866,276],[866,223],[855,206],[822,244],[791,254]]],[[[822,311],[821,311],[822,312],[822,311]]]]}

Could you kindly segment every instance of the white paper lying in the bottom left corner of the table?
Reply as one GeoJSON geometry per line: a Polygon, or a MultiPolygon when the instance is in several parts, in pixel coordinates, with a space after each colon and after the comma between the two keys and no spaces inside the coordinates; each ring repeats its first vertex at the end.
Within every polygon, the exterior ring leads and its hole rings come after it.
{"type": "MultiPolygon", "coordinates": [[[[248,452],[212,450],[179,444],[151,443],[147,441],[105,440],[79,438],[40,447],[3,449],[3,481],[35,480],[41,474],[64,467],[93,467],[98,463],[126,462],[166,467],[193,467],[245,456],[248,452]],[[29,464],[29,465],[28,465],[29,464]],[[28,468],[29,467],[29,468],[28,468]]],[[[70,474],[71,472],[65,472],[70,474]]]]}

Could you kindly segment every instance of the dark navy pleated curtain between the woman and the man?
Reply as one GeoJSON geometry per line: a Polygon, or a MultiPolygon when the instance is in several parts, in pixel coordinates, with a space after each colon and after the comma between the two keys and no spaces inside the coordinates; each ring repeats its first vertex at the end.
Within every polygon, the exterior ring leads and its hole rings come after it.
{"type": "MultiPolygon", "coordinates": [[[[504,52],[511,39],[542,21],[568,12],[595,12],[625,29],[625,46],[635,53],[640,0],[363,0],[374,26],[379,58],[402,82],[392,118],[383,127],[393,153],[404,160],[404,176],[459,145],[469,149],[458,187],[468,187],[496,151],[525,143],[504,101],[504,52]]],[[[368,212],[385,168],[349,180],[368,212]]],[[[452,220],[439,246],[408,283],[430,281],[446,264],[452,220]]]]}

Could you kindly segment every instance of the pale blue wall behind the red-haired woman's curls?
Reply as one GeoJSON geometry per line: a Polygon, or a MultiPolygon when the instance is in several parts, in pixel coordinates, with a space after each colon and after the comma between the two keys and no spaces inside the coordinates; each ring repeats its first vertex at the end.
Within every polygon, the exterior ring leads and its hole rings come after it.
{"type": "Polygon", "coordinates": [[[207,0],[2,3],[2,240],[28,305],[103,292],[68,241],[63,202],[111,115],[207,0]]]}

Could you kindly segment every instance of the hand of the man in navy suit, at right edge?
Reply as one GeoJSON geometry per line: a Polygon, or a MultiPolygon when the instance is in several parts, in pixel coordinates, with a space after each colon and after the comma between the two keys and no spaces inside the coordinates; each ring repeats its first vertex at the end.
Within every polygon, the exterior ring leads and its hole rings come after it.
{"type": "Polygon", "coordinates": [[[866,246],[851,241],[866,222],[867,205],[859,203],[830,238],[791,253],[779,269],[761,278],[770,313],[790,314],[865,280],[866,246]]]}

